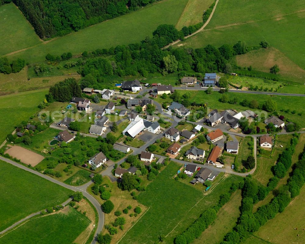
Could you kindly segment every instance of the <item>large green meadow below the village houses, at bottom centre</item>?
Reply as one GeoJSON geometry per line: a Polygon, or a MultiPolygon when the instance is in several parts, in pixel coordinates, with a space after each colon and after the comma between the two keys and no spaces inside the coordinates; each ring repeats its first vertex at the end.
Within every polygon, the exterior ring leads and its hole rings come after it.
{"type": "Polygon", "coordinates": [[[138,201],[148,206],[148,211],[127,232],[120,244],[158,243],[159,236],[167,236],[164,243],[173,243],[208,207],[219,200],[219,195],[227,192],[237,176],[221,177],[218,185],[207,195],[191,184],[174,180],[172,177],[181,167],[171,162],[138,196],[138,201]],[[197,204],[197,205],[196,205],[197,204]]]}

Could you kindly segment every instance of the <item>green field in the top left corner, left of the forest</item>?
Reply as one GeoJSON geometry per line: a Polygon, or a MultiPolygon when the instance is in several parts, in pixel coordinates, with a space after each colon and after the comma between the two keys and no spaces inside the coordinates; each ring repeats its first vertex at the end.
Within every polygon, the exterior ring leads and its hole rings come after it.
{"type": "Polygon", "coordinates": [[[13,4],[0,6],[0,55],[41,43],[33,27],[13,4]]]}

